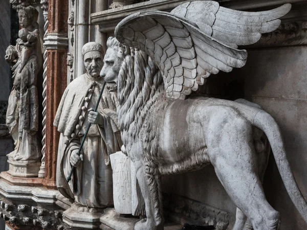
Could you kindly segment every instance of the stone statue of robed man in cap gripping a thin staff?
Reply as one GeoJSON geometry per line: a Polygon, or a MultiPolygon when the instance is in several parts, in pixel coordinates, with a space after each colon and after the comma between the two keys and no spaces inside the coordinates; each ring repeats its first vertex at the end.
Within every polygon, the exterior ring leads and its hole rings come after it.
{"type": "Polygon", "coordinates": [[[117,91],[104,89],[98,112],[96,106],[103,78],[99,76],[103,49],[99,43],[89,42],[82,48],[86,73],[72,81],[65,89],[58,107],[54,126],[61,133],[57,160],[57,187],[73,198],[80,211],[83,206],[103,208],[113,204],[112,169],[109,154],[120,150],[117,125],[117,91]],[[89,123],[92,125],[85,139],[81,155],[77,152],[89,123]],[[71,181],[66,181],[75,167],[71,181]]]}

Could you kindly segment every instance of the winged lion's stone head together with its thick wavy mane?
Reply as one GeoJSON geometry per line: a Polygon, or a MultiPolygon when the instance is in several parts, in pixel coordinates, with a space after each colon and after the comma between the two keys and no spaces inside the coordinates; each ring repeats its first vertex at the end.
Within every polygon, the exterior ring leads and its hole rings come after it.
{"type": "Polygon", "coordinates": [[[164,95],[161,72],[143,51],[126,47],[116,38],[109,38],[100,76],[108,85],[113,83],[118,86],[118,120],[122,141],[129,152],[148,111],[164,95]]]}

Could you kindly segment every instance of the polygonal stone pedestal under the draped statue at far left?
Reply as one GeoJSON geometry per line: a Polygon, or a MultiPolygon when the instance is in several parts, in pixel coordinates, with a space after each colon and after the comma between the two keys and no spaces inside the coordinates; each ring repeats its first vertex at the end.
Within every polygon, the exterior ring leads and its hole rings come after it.
{"type": "Polygon", "coordinates": [[[23,162],[22,160],[15,162],[13,160],[8,160],[9,171],[8,173],[12,176],[18,177],[37,177],[40,167],[40,162],[29,163],[23,162]]]}

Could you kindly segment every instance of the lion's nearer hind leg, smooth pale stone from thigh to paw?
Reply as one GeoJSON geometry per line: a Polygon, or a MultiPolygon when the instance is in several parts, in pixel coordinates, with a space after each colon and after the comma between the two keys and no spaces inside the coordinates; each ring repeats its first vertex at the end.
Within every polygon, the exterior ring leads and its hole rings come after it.
{"type": "Polygon", "coordinates": [[[254,230],[277,230],[279,213],[266,200],[258,176],[252,127],[238,116],[211,123],[208,150],[216,175],[254,230]],[[221,131],[222,130],[222,131],[221,131]]]}

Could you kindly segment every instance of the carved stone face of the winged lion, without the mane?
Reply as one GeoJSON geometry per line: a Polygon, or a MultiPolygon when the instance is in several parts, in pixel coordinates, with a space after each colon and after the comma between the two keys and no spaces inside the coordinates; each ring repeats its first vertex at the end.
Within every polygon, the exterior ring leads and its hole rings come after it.
{"type": "Polygon", "coordinates": [[[106,88],[109,91],[116,91],[118,74],[125,56],[129,54],[130,48],[121,44],[115,37],[109,37],[106,45],[107,50],[100,76],[104,78],[106,88]]]}

